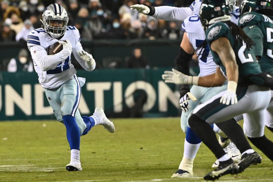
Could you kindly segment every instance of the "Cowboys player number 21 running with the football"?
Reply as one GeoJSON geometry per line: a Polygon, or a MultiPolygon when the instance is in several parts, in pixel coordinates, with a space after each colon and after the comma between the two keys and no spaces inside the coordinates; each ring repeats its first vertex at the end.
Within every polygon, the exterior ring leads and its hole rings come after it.
{"type": "Polygon", "coordinates": [[[95,125],[103,125],[109,132],[115,132],[115,126],[109,121],[102,108],[96,108],[92,116],[80,116],[78,105],[81,86],[85,79],[76,76],[71,64],[71,53],[87,71],[93,71],[96,62],[91,54],[82,49],[80,34],[75,26],[67,26],[68,15],[59,4],[49,5],[42,14],[42,28],[28,34],[27,45],[31,53],[34,69],[38,73],[39,83],[59,122],[66,127],[67,140],[71,149],[68,171],[82,171],[80,165],[80,136],[85,135],[95,125]],[[47,47],[59,42],[63,50],[47,55],[47,47]]]}

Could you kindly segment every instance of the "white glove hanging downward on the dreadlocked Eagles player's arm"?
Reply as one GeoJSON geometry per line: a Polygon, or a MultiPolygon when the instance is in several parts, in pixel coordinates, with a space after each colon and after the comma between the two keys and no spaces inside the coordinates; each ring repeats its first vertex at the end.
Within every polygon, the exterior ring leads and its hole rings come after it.
{"type": "Polygon", "coordinates": [[[237,95],[236,95],[237,83],[235,81],[228,81],[228,90],[221,97],[220,103],[229,105],[237,104],[237,95]]]}

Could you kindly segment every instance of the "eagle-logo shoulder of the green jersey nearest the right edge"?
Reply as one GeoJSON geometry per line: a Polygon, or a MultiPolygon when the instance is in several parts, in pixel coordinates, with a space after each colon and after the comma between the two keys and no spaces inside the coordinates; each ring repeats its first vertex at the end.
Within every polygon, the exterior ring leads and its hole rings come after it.
{"type": "Polygon", "coordinates": [[[249,25],[255,25],[258,24],[259,22],[261,22],[261,16],[257,13],[245,13],[243,15],[241,15],[240,19],[239,19],[239,26],[249,26],[249,25]]]}

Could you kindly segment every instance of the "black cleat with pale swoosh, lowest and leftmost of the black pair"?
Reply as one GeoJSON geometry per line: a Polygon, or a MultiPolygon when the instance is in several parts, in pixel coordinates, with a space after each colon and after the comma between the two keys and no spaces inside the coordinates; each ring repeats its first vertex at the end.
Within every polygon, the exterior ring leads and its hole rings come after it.
{"type": "Polygon", "coordinates": [[[238,174],[239,167],[233,162],[232,159],[228,159],[224,162],[219,162],[218,167],[204,176],[205,180],[214,181],[226,174],[238,174]]]}

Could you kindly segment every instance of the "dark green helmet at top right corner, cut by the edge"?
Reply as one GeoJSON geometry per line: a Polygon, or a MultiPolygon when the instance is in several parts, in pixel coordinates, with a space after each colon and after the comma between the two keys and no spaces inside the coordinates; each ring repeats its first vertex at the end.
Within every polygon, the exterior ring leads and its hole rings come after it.
{"type": "Polygon", "coordinates": [[[272,0],[244,0],[241,3],[240,13],[243,15],[244,13],[251,11],[263,11],[263,10],[272,10],[273,3],[272,0]]]}

